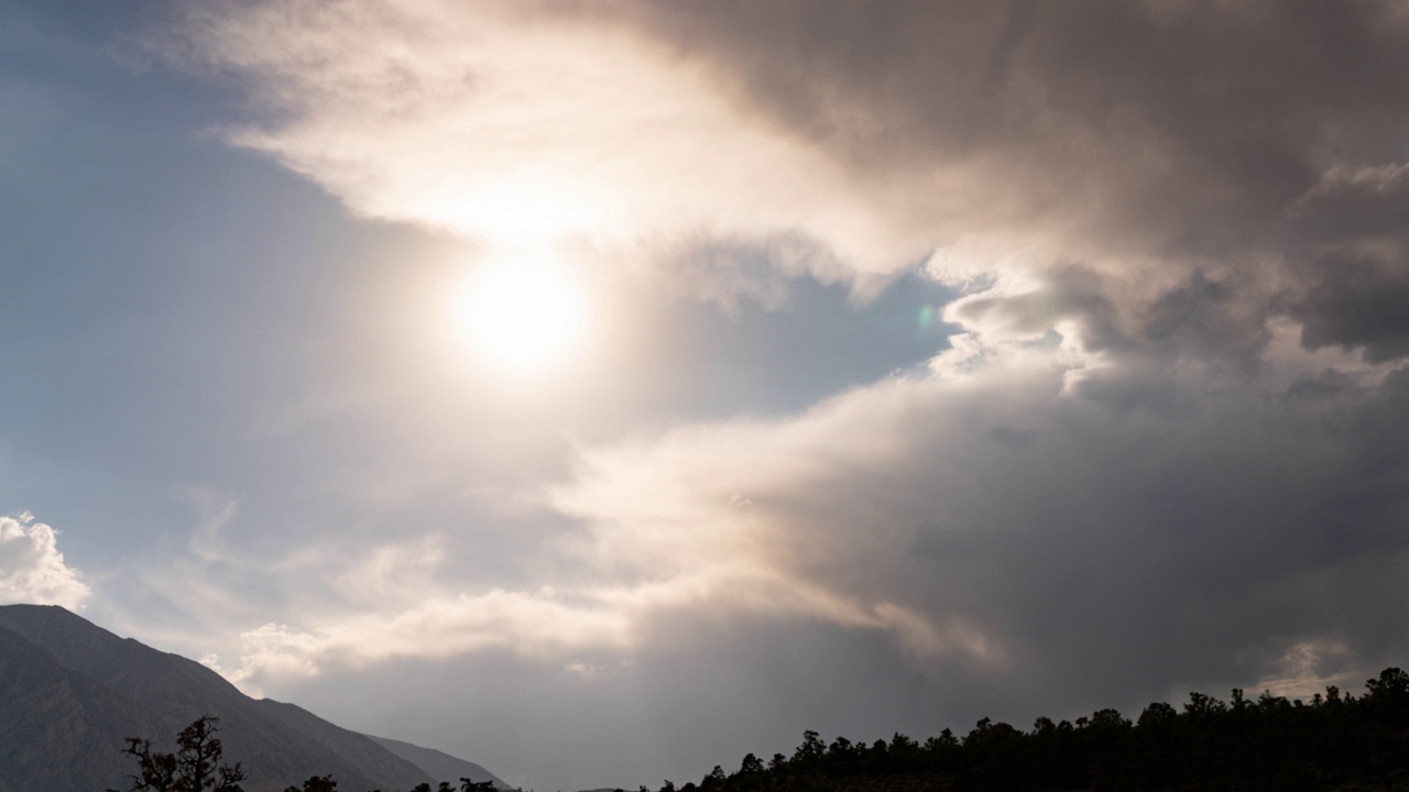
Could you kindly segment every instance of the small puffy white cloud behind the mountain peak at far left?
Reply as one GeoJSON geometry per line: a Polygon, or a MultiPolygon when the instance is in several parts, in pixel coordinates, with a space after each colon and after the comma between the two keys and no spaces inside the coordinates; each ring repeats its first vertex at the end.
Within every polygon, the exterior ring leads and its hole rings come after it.
{"type": "Polygon", "coordinates": [[[58,531],[35,523],[28,512],[0,516],[0,603],[76,610],[90,595],[83,575],[63,562],[58,531]]]}

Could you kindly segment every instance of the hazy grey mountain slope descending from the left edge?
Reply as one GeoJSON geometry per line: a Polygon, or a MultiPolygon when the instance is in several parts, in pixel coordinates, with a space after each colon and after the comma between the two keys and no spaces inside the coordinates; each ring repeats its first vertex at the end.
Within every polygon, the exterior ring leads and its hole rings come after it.
{"type": "Polygon", "coordinates": [[[220,717],[225,758],[244,764],[249,792],[311,775],[331,775],[349,792],[437,781],[372,737],[251,699],[199,662],[62,607],[0,606],[0,792],[118,786],[134,767],[120,753],[125,737],[173,750],[175,734],[201,714],[220,717]]]}

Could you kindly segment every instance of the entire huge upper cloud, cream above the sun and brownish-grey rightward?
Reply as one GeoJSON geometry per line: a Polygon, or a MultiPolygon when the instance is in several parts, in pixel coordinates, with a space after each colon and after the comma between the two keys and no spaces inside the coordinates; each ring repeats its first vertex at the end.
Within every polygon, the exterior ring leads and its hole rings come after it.
{"type": "Polygon", "coordinates": [[[304,1],[149,48],[237,78],[225,138],[368,217],[573,240],[726,307],[929,256],[1023,285],[1010,324],[1246,371],[1284,317],[1409,354],[1406,44],[1379,0],[304,1]]]}

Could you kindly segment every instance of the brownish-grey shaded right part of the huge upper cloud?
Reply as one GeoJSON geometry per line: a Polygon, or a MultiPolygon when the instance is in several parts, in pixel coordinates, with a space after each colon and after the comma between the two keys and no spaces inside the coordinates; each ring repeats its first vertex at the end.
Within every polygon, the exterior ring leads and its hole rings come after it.
{"type": "MultiPolygon", "coordinates": [[[[1247,365],[1261,321],[1291,316],[1309,348],[1409,354],[1402,3],[590,8],[709,68],[936,244],[1041,230],[1058,299],[1082,266],[1186,271],[1136,333],[1247,365]],[[978,173],[965,193],[927,194],[954,168],[978,173]]],[[[1127,310],[1086,296],[1067,309],[1088,321],[1127,310]]]]}

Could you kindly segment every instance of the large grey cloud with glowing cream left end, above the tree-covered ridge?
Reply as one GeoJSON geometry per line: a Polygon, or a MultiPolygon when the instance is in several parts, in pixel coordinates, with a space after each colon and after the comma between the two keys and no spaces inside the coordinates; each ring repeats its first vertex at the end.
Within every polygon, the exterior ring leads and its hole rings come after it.
{"type": "MultiPolygon", "coordinates": [[[[951,683],[1120,700],[1282,678],[1298,645],[1333,641],[1355,669],[1409,647],[1388,605],[1409,593],[1409,458],[1386,440],[1409,428],[1409,372],[1320,400],[1279,399],[1268,382],[1293,371],[1189,375],[1184,409],[1129,412],[1071,357],[985,355],[778,423],[586,450],[555,503],[600,568],[750,571],[703,612],[747,602],[741,579],[765,609],[817,592],[792,612],[883,626],[951,683]]],[[[1164,388],[1150,376],[1130,375],[1164,388]]]]}

